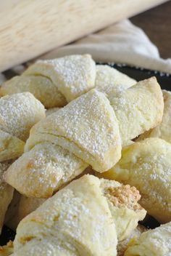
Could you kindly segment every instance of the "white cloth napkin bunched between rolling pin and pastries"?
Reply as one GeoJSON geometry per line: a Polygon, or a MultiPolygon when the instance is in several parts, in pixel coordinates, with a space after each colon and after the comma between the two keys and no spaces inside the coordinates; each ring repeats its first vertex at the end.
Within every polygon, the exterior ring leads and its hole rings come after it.
{"type": "Polygon", "coordinates": [[[51,59],[83,53],[90,53],[94,60],[100,62],[124,63],[171,73],[171,59],[162,59],[157,47],[152,44],[141,28],[133,25],[130,20],[111,25],[72,44],[54,49],[39,58],[51,59]]]}

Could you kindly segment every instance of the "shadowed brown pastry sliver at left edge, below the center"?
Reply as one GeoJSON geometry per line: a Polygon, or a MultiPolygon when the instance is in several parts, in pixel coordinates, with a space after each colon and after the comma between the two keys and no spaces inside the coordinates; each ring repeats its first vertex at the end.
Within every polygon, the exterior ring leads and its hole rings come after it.
{"type": "Polygon", "coordinates": [[[10,201],[12,200],[14,188],[4,182],[2,176],[4,171],[9,167],[11,163],[5,161],[0,163],[0,233],[1,228],[4,224],[4,217],[9,206],[10,201]]]}

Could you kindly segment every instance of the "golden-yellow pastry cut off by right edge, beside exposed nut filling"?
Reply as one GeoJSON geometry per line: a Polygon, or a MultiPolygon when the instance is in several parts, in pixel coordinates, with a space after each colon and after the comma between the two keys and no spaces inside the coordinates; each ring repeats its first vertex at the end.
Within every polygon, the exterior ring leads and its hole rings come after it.
{"type": "Polygon", "coordinates": [[[140,204],[160,223],[171,220],[171,144],[147,138],[122,150],[122,158],[104,177],[134,185],[140,204]]]}

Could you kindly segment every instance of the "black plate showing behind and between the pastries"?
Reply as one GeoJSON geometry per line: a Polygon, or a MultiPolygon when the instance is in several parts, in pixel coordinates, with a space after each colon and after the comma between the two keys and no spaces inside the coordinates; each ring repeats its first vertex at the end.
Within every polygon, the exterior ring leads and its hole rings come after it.
{"type": "MultiPolygon", "coordinates": [[[[137,68],[137,67],[130,67],[128,65],[124,64],[115,64],[115,63],[97,63],[101,65],[109,65],[112,68],[116,68],[118,71],[127,74],[128,76],[132,77],[133,79],[137,81],[141,81],[143,79],[148,79],[151,76],[156,76],[157,81],[159,82],[162,89],[171,90],[171,75],[167,73],[161,73],[159,71],[151,71],[143,68],[137,68]]],[[[11,78],[12,76],[15,76],[16,74],[12,71],[7,71],[5,73],[8,78],[11,78]]],[[[155,220],[152,217],[146,218],[145,221],[142,222],[143,225],[145,225],[147,228],[155,228],[159,226],[159,223],[157,220],[155,220]]],[[[7,244],[7,241],[14,240],[14,231],[4,226],[2,229],[2,233],[0,236],[0,245],[7,244]]]]}

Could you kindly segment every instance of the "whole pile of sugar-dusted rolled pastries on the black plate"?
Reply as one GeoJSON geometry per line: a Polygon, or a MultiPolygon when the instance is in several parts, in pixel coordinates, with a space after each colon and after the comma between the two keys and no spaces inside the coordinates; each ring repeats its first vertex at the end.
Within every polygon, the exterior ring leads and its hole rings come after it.
{"type": "Polygon", "coordinates": [[[0,95],[0,228],[16,231],[0,255],[171,255],[171,92],[155,77],[70,55],[0,95]]]}

